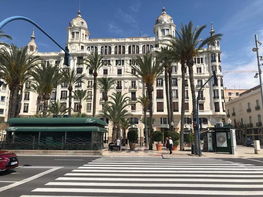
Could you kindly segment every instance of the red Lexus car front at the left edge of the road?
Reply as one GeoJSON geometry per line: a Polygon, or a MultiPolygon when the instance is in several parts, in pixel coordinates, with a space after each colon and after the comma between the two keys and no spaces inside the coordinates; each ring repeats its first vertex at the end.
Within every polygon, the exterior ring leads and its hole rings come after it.
{"type": "Polygon", "coordinates": [[[0,171],[18,167],[17,155],[10,151],[0,150],[0,171]]]}

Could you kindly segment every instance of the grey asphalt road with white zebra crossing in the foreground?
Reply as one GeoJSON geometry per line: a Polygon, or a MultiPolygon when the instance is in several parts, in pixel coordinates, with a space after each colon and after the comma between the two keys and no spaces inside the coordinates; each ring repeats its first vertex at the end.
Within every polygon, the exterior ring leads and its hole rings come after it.
{"type": "Polygon", "coordinates": [[[0,196],[262,196],[263,158],[19,156],[0,196]]]}

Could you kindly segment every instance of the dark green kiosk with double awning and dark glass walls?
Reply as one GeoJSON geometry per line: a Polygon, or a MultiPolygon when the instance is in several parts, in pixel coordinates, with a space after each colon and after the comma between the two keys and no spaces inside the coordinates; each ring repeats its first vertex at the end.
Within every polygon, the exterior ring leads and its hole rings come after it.
{"type": "Polygon", "coordinates": [[[11,118],[7,150],[101,150],[108,124],[97,118],[11,118]]]}

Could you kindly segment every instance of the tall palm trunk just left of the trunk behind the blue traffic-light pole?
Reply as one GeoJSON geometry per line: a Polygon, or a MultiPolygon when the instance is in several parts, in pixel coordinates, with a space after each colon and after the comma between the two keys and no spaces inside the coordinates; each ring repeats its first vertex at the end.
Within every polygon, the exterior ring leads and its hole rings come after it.
{"type": "Polygon", "coordinates": [[[180,129],[180,151],[184,151],[184,110],[185,110],[185,66],[181,62],[182,71],[182,102],[181,102],[181,129],[180,129]]]}

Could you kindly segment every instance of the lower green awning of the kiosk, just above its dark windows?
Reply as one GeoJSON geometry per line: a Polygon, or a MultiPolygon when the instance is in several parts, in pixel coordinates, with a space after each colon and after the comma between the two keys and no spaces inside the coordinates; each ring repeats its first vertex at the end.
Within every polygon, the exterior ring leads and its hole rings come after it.
{"type": "MultiPolygon", "coordinates": [[[[44,119],[44,118],[43,118],[44,119]]],[[[103,132],[107,133],[107,129],[101,128],[101,127],[7,127],[6,131],[28,131],[28,132],[33,132],[33,131],[53,131],[53,132],[63,132],[63,131],[98,131],[98,132],[103,132]]]]}

